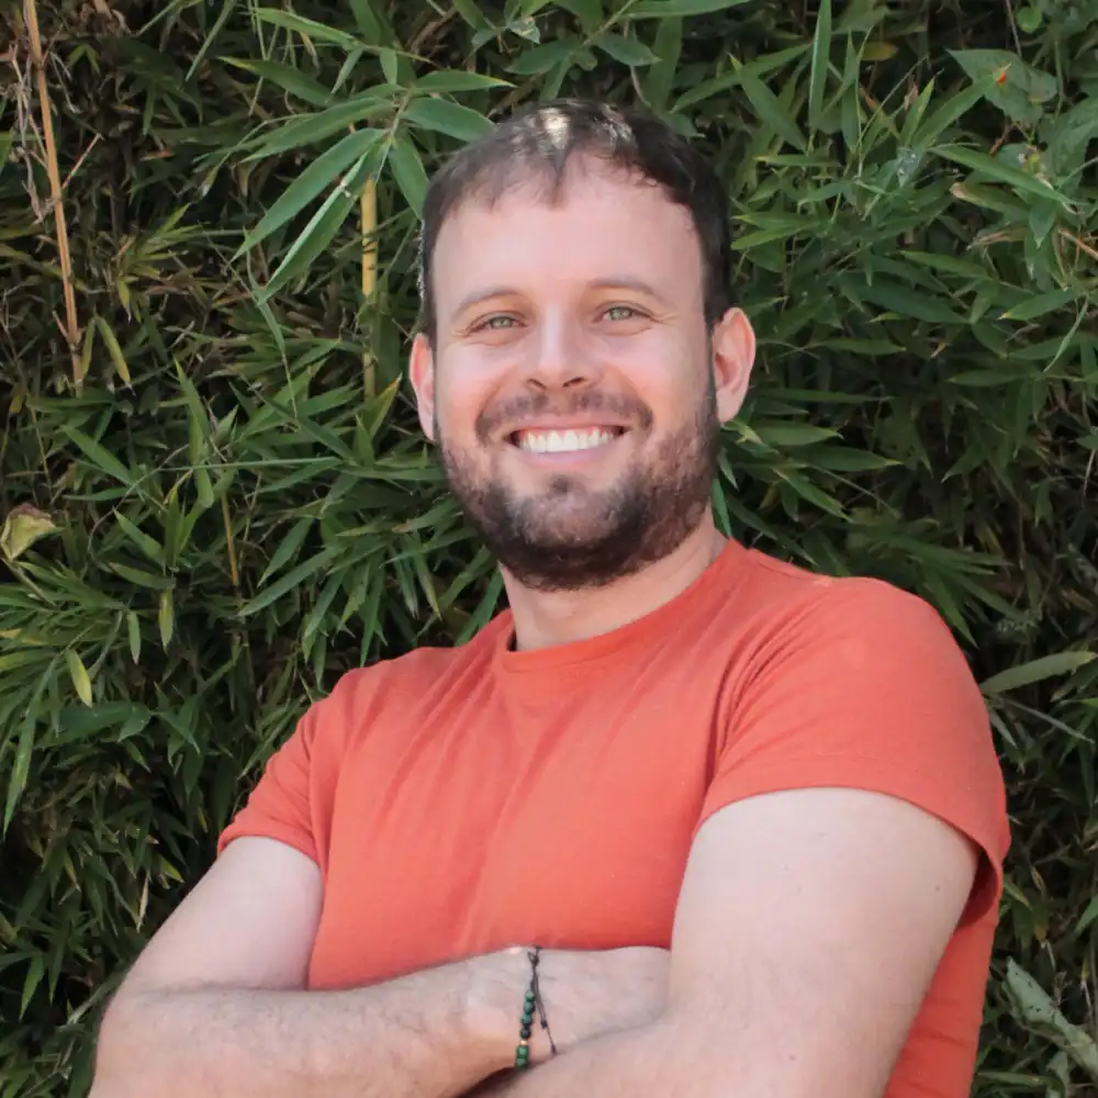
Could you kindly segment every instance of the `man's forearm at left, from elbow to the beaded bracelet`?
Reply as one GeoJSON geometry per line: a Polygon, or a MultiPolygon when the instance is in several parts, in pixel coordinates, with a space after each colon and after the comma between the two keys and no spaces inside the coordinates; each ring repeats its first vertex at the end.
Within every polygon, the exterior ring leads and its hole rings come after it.
{"type": "Polygon", "coordinates": [[[493,1020],[522,978],[493,954],[346,991],[123,991],[92,1098],[450,1098],[511,1062],[493,1020]]]}

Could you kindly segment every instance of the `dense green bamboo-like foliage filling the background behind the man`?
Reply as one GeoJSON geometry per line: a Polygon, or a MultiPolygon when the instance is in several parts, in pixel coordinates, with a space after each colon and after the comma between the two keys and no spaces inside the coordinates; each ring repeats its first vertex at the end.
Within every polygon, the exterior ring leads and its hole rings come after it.
{"type": "Polygon", "coordinates": [[[721,523],[927,596],[984,683],[1016,839],[976,1093],[1098,1094],[1098,0],[269,2],[42,5],[70,354],[0,0],[0,1098],[85,1093],[310,698],[497,608],[402,381],[416,210],[558,92],[727,181],[761,349],[721,523]]]}

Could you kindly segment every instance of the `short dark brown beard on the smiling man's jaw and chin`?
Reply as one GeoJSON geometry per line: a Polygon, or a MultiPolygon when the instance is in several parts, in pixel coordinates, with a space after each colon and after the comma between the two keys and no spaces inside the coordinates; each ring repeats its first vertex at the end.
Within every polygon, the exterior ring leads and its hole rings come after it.
{"type": "MultiPolygon", "coordinates": [[[[567,415],[597,403],[587,394],[553,411],[567,415]]],[[[524,411],[545,411],[549,401],[531,404],[524,411]]],[[[651,422],[647,410],[641,422],[651,422]]],[[[720,422],[710,374],[694,416],[616,484],[591,491],[582,477],[561,473],[536,495],[518,495],[502,477],[484,478],[445,432],[436,437],[450,491],[500,564],[530,590],[582,591],[662,560],[697,529],[712,497],[720,422]]]]}

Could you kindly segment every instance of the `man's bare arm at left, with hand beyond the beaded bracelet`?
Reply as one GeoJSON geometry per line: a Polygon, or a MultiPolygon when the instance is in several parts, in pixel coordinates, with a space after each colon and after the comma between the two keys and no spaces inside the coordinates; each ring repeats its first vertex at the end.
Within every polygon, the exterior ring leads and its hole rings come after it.
{"type": "MultiPolygon", "coordinates": [[[[511,1066],[524,950],[307,991],[321,899],[303,854],[270,839],[231,843],[108,1010],[91,1098],[450,1098],[511,1066]]],[[[663,951],[550,955],[565,1046],[662,1008],[663,951]]]]}

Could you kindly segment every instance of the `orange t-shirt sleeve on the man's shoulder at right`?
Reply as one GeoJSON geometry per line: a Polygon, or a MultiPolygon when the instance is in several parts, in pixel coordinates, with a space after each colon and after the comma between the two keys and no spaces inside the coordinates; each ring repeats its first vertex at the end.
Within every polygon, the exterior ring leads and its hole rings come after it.
{"type": "Polygon", "coordinates": [[[729,703],[702,811],[808,787],[907,800],[986,855],[966,912],[997,901],[1006,792],[983,695],[928,603],[876,580],[831,581],[759,642],[729,703]]]}

